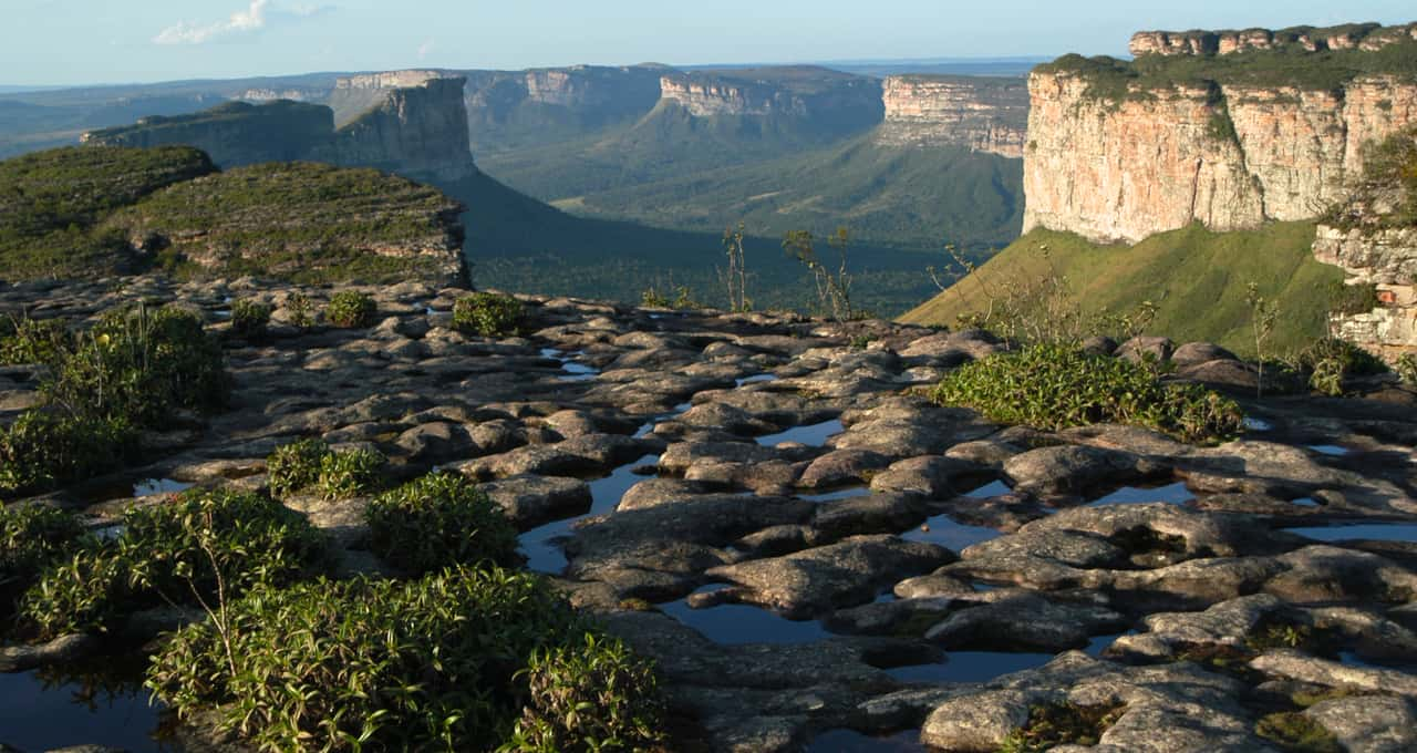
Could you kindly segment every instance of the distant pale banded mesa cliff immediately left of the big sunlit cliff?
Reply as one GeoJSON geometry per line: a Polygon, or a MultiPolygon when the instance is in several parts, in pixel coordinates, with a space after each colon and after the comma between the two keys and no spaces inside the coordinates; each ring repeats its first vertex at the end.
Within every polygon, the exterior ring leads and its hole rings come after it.
{"type": "Polygon", "coordinates": [[[1022,157],[1029,88],[1022,78],[893,75],[883,85],[884,146],[964,146],[1022,157]]]}

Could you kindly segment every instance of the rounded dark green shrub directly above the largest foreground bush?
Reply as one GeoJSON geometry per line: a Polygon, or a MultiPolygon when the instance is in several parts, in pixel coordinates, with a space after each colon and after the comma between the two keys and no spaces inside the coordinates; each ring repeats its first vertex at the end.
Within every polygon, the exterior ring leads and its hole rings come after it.
{"type": "Polygon", "coordinates": [[[459,475],[429,474],[385,492],[368,503],[364,518],[370,549],[407,573],[516,560],[516,528],[459,475]]]}

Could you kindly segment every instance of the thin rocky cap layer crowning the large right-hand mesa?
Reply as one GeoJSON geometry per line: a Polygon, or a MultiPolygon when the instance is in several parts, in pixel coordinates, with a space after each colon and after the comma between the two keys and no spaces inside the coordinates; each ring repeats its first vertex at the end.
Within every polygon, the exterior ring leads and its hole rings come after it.
{"type": "Polygon", "coordinates": [[[1404,40],[1417,40],[1417,23],[1384,27],[1345,24],[1335,27],[1243,28],[1224,31],[1138,31],[1129,50],[1142,55],[1233,55],[1255,50],[1363,50],[1376,52],[1404,40]]]}

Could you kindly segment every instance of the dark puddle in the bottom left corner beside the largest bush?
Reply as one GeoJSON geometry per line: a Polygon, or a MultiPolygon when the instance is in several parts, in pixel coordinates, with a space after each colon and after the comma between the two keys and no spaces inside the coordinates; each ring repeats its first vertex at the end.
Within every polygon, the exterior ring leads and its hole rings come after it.
{"type": "MultiPolygon", "coordinates": [[[[20,750],[99,744],[132,753],[166,753],[153,739],[163,709],[140,682],[64,676],[54,668],[0,674],[0,743],[20,750]]],[[[4,747],[0,744],[0,747],[4,747]]]]}

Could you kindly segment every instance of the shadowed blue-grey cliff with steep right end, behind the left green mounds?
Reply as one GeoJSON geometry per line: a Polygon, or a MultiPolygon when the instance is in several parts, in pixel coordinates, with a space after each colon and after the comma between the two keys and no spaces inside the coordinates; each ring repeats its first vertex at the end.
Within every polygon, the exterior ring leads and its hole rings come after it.
{"type": "Polygon", "coordinates": [[[462,78],[428,71],[371,74],[340,79],[336,87],[346,105],[368,104],[339,129],[334,111],[324,105],[228,102],[194,115],[145,118],[132,126],[86,133],[82,140],[95,146],[188,145],[222,167],[315,160],[459,180],[476,172],[462,88],[462,78]]]}

